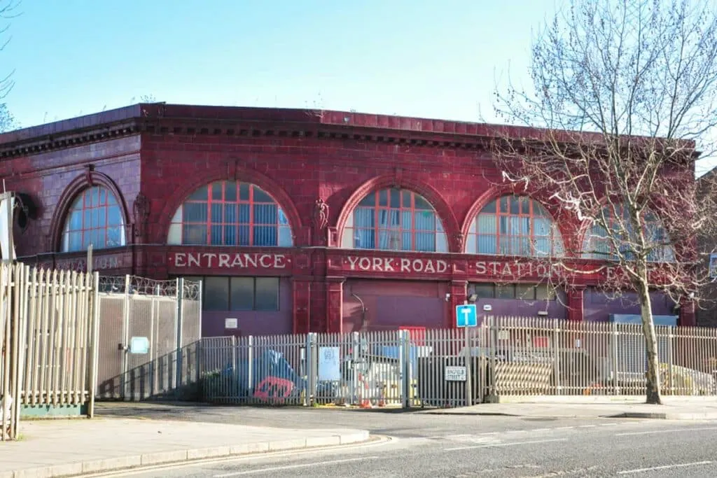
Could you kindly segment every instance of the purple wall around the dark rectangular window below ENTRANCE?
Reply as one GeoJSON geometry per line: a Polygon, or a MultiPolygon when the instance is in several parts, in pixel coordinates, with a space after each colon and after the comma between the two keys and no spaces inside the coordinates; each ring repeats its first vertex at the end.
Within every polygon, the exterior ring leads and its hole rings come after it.
{"type": "Polygon", "coordinates": [[[290,279],[279,283],[279,310],[258,311],[204,311],[201,312],[201,336],[222,337],[234,335],[234,330],[224,329],[224,319],[237,319],[239,335],[283,335],[293,331],[292,292],[290,279]]]}

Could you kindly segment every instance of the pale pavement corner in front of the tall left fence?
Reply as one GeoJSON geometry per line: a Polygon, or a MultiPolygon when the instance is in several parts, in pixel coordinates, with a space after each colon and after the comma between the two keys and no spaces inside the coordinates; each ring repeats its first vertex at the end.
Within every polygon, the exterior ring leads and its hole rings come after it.
{"type": "Polygon", "coordinates": [[[353,429],[275,429],[138,419],[21,421],[0,443],[0,478],[61,477],[194,459],[352,444],[353,429]]]}

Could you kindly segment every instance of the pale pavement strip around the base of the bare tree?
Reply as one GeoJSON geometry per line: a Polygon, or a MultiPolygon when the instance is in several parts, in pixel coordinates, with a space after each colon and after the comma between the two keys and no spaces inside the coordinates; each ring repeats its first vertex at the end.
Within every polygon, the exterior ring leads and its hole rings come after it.
{"type": "MultiPolygon", "coordinates": [[[[527,398],[527,397],[526,397],[527,398]]],[[[536,397],[537,398],[537,397],[536,397]]],[[[533,418],[628,418],[664,420],[717,420],[717,398],[663,398],[663,405],[647,405],[645,398],[576,400],[544,397],[515,403],[482,403],[461,408],[422,411],[422,414],[505,415],[533,418]]]]}

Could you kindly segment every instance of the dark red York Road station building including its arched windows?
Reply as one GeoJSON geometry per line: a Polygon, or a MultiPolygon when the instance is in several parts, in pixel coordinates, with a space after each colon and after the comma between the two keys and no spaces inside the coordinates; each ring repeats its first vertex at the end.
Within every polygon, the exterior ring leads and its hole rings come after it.
{"type": "MultiPolygon", "coordinates": [[[[539,285],[546,265],[529,258],[580,250],[584,231],[500,184],[490,135],[444,120],[141,104],[0,135],[0,176],[37,206],[14,229],[22,260],[84,268],[92,242],[102,274],[202,277],[204,335],[227,333],[227,318],[242,334],[450,327],[470,295],[495,315],[637,313],[597,292],[597,274],[556,293],[539,285]]],[[[683,304],[680,323],[693,321],[683,304]]]]}

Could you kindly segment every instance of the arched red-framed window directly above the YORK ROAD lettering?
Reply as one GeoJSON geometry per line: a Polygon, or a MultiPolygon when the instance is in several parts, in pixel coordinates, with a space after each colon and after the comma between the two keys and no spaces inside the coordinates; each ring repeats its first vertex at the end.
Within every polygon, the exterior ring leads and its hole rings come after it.
{"type": "Polygon", "coordinates": [[[419,194],[399,188],[374,191],[356,206],[343,227],[341,247],[448,252],[433,206],[419,194]]]}

